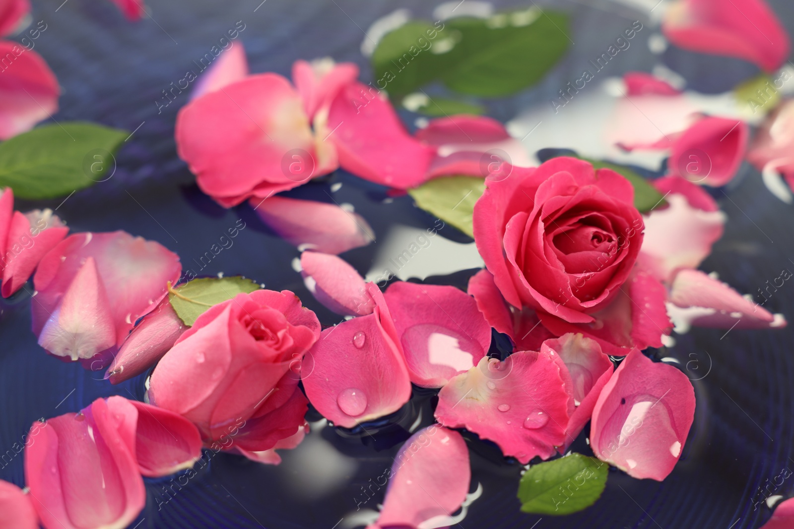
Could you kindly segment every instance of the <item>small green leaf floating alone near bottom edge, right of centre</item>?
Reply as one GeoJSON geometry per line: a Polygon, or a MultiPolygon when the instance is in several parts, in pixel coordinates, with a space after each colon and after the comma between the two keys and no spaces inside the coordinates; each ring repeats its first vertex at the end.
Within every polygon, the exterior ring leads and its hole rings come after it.
{"type": "Polygon", "coordinates": [[[607,485],[609,465],[582,454],[538,463],[521,477],[521,510],[534,514],[566,515],[590,507],[607,485]]]}

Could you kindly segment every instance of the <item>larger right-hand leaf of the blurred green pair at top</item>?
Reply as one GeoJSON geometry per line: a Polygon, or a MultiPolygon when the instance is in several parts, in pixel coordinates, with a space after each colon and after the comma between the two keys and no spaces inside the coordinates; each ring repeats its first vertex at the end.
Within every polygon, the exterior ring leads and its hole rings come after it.
{"type": "Polygon", "coordinates": [[[463,94],[498,98],[532,86],[568,51],[569,16],[530,7],[481,18],[453,18],[450,32],[460,32],[453,48],[457,63],[441,79],[463,94]]]}

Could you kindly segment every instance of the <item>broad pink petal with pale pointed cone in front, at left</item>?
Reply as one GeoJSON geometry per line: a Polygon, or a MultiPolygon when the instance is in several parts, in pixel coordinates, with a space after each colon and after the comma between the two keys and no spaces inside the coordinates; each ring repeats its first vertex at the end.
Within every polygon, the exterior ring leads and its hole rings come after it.
{"type": "Polygon", "coordinates": [[[175,253],[126,232],[68,236],[33,277],[33,332],[51,355],[102,369],[181,271],[175,253]]]}

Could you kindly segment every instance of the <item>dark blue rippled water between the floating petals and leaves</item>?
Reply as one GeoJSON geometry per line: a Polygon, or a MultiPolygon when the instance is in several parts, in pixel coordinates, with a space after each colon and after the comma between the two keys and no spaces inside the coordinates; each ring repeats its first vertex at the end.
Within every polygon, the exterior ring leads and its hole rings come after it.
{"type": "MultiPolygon", "coordinates": [[[[248,206],[221,209],[196,188],[193,176],[175,155],[173,141],[175,114],[187,102],[187,93],[161,108],[160,113],[157,102],[162,105],[161,90],[183,79],[195,67],[193,61],[209,52],[237,21],[245,23],[240,38],[252,71],[288,75],[295,59],[330,55],[359,63],[362,78],[369,80],[370,71],[359,51],[364,38],[360,28],[367,29],[376,18],[398,7],[397,2],[267,0],[260,5],[260,0],[149,0],[153,19],[131,24],[105,0],[68,0],[56,12],[60,1],[33,2],[34,21],[44,20],[48,25],[35,49],[64,88],[56,119],[98,121],[130,131],[140,128],[118,154],[113,178],[74,194],[57,213],[75,232],[124,229],[157,240],[179,253],[186,267],[197,266],[193,259],[243,218],[246,228],[233,247],[222,251],[202,272],[245,274],[271,289],[291,289],[318,313],[323,324],[336,323],[338,316],[314,301],[291,268],[292,259],[299,255],[294,247],[268,232],[248,206]]],[[[634,20],[630,11],[617,4],[606,0],[593,3],[607,9],[564,4],[574,13],[576,44],[569,56],[533,90],[488,102],[489,115],[507,121],[525,105],[552,98],[559,86],[580,74],[579,65],[589,58],[588,52],[606,48],[626,21],[634,20]]],[[[399,6],[424,17],[430,17],[434,7],[420,0],[399,2],[399,6]]],[[[789,31],[794,30],[794,5],[778,0],[773,6],[789,31]]],[[[644,46],[621,55],[619,63],[610,65],[614,68],[610,75],[647,69],[651,63],[644,46]]],[[[727,90],[753,71],[737,61],[673,49],[665,53],[665,61],[684,75],[690,86],[711,93],[727,90]]],[[[409,197],[382,204],[383,189],[341,172],[326,182],[313,183],[302,193],[322,197],[323,186],[333,182],[344,182],[335,195],[337,201],[355,205],[377,236],[384,236],[396,221],[433,225],[433,217],[415,209],[409,197]]],[[[756,293],[783,268],[794,266],[789,260],[794,259],[794,209],[769,194],[757,171],[747,165],[726,193],[718,194],[729,217],[726,234],[703,269],[719,272],[723,281],[741,292],[756,293]]],[[[55,208],[59,204],[56,200],[17,206],[55,208]]],[[[441,235],[466,240],[453,228],[445,228],[441,235]]],[[[364,274],[375,252],[376,245],[371,245],[344,257],[364,274]]],[[[437,278],[437,282],[462,285],[465,276],[437,278]]],[[[794,286],[786,283],[766,307],[791,319],[792,293],[794,286]]],[[[112,386],[99,374],[45,355],[29,332],[29,305],[25,295],[2,304],[0,459],[5,450],[13,454],[14,443],[21,442],[33,420],[79,410],[97,397],[121,394],[141,399],[144,393],[143,376],[112,386]]],[[[682,364],[695,360],[689,364],[692,378],[708,374],[695,382],[696,420],[676,470],[663,483],[638,481],[612,472],[601,500],[574,516],[540,519],[520,513],[515,498],[519,467],[504,461],[494,447],[469,439],[472,487],[481,483],[484,496],[472,504],[461,527],[759,527],[771,512],[763,501],[758,502],[769,494],[761,494],[759,486],[780,481],[776,477],[787,467],[794,469],[792,351],[794,335],[790,329],[734,330],[727,335],[719,330],[696,329],[677,337],[676,347],[667,354],[679,358],[682,364]]],[[[404,410],[403,426],[376,435],[377,442],[367,435],[341,435],[326,427],[309,438],[317,438],[313,446],[320,454],[312,467],[299,464],[289,453],[284,454],[285,462],[279,467],[218,454],[190,481],[176,481],[176,485],[168,480],[149,481],[147,507],[130,527],[139,523],[137,527],[141,528],[169,529],[331,529],[356,510],[362,485],[391,464],[391,456],[407,436],[406,425],[419,410],[422,424],[429,423],[432,404],[432,395],[414,396],[404,410]],[[323,457],[327,450],[335,455],[323,457]],[[332,460],[336,464],[333,469],[332,460]],[[318,493],[318,487],[310,485],[318,481],[324,466],[338,483],[318,493]],[[300,485],[301,480],[304,485],[300,485]]],[[[583,440],[576,448],[587,450],[583,440]]],[[[23,485],[21,455],[6,456],[0,465],[2,479],[23,485]]],[[[381,489],[361,507],[376,508],[383,493],[381,489]]],[[[794,495],[794,478],[789,477],[774,493],[794,495]]]]}

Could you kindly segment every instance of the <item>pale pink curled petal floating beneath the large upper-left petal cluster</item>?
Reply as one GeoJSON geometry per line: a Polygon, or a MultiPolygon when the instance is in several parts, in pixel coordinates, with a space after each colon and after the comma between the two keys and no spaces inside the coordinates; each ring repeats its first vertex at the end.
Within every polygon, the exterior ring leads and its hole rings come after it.
{"type": "Polygon", "coordinates": [[[336,255],[375,240],[363,217],[338,205],[287,197],[253,198],[251,205],[268,228],[299,249],[336,255]]]}

